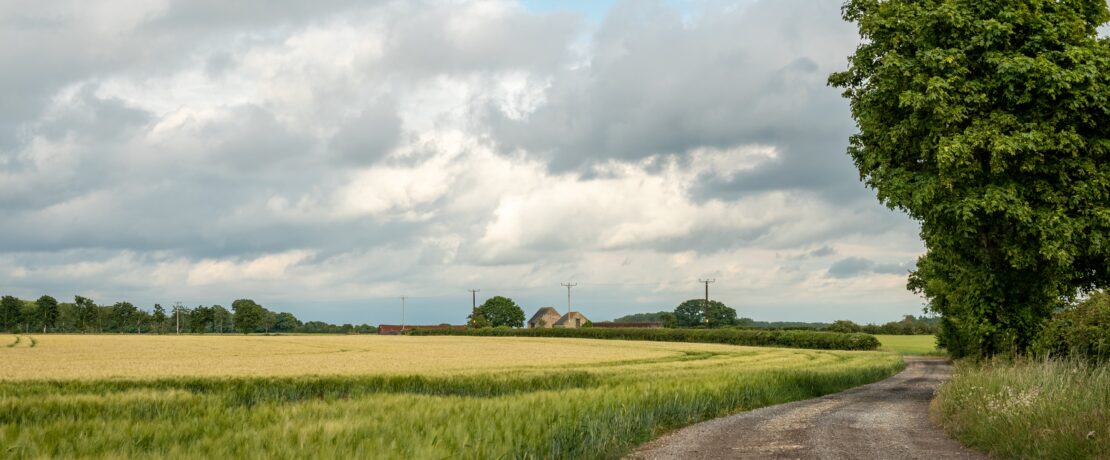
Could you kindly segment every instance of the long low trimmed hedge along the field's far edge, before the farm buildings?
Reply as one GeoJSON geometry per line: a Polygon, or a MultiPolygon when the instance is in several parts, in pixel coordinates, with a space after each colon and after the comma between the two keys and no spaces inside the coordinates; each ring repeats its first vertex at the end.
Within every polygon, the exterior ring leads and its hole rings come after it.
{"type": "Polygon", "coordinates": [[[763,331],[744,329],[508,329],[411,331],[413,336],[565,337],[576,339],[650,340],[658,342],[727,343],[751,347],[811,348],[819,350],[876,350],[879,340],[866,333],[817,331],[763,331]]]}

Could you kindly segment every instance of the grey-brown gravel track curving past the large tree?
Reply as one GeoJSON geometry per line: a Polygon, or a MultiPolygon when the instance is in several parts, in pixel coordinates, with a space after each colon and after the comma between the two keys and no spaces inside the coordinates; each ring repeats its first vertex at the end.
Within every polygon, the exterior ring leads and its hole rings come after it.
{"type": "Polygon", "coordinates": [[[889,379],[817,399],[709,420],[644,444],[629,459],[982,459],[929,422],[951,373],[942,358],[906,357],[889,379]]]}

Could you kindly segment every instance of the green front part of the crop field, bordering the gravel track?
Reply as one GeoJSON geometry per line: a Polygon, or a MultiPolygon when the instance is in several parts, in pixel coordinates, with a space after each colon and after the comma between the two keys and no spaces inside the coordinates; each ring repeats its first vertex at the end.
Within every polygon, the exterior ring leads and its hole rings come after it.
{"type": "Polygon", "coordinates": [[[902,366],[891,353],[704,347],[549,368],[537,354],[534,368],[454,376],[0,381],[0,446],[12,458],[616,458],[669,429],[902,366]]]}

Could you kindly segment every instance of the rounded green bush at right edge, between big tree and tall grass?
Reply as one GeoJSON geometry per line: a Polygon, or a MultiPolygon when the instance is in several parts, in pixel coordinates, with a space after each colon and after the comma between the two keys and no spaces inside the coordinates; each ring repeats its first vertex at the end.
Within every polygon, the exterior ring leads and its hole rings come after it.
{"type": "Polygon", "coordinates": [[[1079,304],[1052,316],[1033,350],[1040,354],[1110,361],[1110,293],[1096,292],[1079,304]]]}

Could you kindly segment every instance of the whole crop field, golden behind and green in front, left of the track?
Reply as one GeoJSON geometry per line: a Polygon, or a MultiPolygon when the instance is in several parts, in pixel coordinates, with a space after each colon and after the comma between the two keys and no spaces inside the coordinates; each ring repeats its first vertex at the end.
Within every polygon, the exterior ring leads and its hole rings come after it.
{"type": "Polygon", "coordinates": [[[4,457],[614,458],[897,354],[498,337],[7,336],[4,457]]]}

